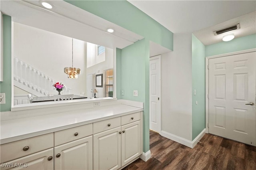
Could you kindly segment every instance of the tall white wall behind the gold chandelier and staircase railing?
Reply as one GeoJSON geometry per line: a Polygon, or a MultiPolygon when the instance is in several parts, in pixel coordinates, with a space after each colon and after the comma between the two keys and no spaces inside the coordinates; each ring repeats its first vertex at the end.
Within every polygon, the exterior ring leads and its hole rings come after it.
{"type": "Polygon", "coordinates": [[[86,91],[85,43],[74,39],[74,67],[81,73],[68,79],[64,67],[72,66],[72,38],[14,22],[14,57],[72,88],[72,94],[86,91]]]}

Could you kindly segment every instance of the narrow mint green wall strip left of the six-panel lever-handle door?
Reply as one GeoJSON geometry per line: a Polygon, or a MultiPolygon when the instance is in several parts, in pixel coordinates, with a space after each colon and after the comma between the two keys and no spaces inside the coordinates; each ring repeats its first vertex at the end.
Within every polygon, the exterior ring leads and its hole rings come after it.
{"type": "Polygon", "coordinates": [[[192,140],[205,128],[205,46],[192,34],[192,140]],[[196,89],[196,95],[194,95],[196,89]],[[198,101],[198,105],[196,105],[198,101]]]}

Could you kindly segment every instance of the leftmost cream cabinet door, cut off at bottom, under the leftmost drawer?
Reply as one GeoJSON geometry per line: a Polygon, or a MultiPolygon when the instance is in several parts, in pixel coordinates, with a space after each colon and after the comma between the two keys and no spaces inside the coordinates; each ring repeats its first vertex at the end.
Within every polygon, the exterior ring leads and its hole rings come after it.
{"type": "Polygon", "coordinates": [[[50,148],[10,162],[2,163],[1,170],[53,170],[53,156],[53,148],[50,148]]]}

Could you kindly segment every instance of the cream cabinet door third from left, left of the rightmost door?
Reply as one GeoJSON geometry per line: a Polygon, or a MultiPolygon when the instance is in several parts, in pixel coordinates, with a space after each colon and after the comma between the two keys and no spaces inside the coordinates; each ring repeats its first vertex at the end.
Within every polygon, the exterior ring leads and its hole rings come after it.
{"type": "Polygon", "coordinates": [[[114,170],[121,167],[121,127],[93,135],[93,169],[114,170]]]}

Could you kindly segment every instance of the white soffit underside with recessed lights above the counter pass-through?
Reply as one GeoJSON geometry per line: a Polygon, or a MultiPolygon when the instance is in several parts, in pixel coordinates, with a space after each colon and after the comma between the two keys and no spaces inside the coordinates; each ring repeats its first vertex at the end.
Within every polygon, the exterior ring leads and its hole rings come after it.
{"type": "Polygon", "coordinates": [[[48,2],[51,10],[42,8],[38,0],[0,0],[0,7],[14,22],[110,48],[122,49],[143,38],[65,1],[48,2]],[[115,32],[110,34],[107,28],[115,32]]]}

